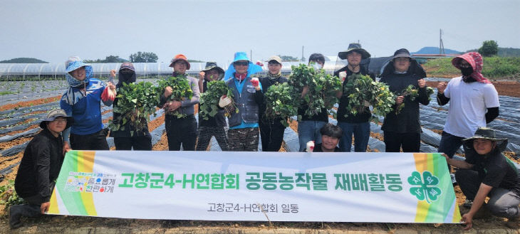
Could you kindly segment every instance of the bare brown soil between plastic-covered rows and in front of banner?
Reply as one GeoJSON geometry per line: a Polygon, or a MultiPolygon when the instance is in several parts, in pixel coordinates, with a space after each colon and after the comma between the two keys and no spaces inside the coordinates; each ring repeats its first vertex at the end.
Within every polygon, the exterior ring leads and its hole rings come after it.
{"type": "MultiPolygon", "coordinates": [[[[520,97],[519,92],[512,92],[514,90],[520,90],[520,83],[517,82],[499,82],[501,85],[496,85],[496,89],[499,95],[508,95],[514,97],[520,97]],[[518,85],[518,86],[515,86],[518,85]],[[512,88],[511,88],[512,87],[512,88]],[[513,95],[514,94],[514,95],[513,95]]],[[[429,86],[436,87],[437,83],[429,82],[429,86]]],[[[15,104],[9,104],[0,106],[0,110],[9,110],[16,107],[26,107],[31,105],[39,105],[46,102],[57,101],[59,96],[52,98],[44,98],[40,100],[32,100],[26,102],[18,102],[15,104]]],[[[197,110],[196,110],[197,111],[197,110]]],[[[154,119],[154,121],[148,124],[150,131],[164,123],[164,116],[154,119]]],[[[38,127],[34,124],[27,129],[23,129],[17,132],[24,132],[28,129],[38,127]]],[[[298,122],[289,122],[289,127],[295,132],[298,132],[298,122]]],[[[9,133],[13,134],[13,133],[9,133]]],[[[371,137],[383,140],[380,134],[370,134],[371,137]]],[[[6,149],[16,144],[21,144],[30,140],[31,137],[17,139],[11,142],[3,142],[0,144],[0,149],[6,149]]],[[[152,150],[165,151],[167,150],[167,138],[166,134],[162,134],[162,137],[152,150]]],[[[285,151],[282,146],[280,151],[285,151]]],[[[375,149],[368,149],[368,151],[377,151],[375,149]]],[[[19,163],[23,151],[19,152],[14,156],[0,157],[0,169],[6,168],[13,164],[19,163]]],[[[511,152],[506,152],[506,156],[513,159],[515,156],[511,152]]],[[[514,159],[517,163],[520,160],[514,159]]],[[[14,180],[16,177],[16,171],[18,166],[14,166],[13,172],[6,174],[3,181],[0,182],[0,186],[6,184],[8,180],[14,180]]],[[[464,203],[464,196],[460,191],[459,187],[455,187],[455,194],[457,196],[457,203],[464,203]]],[[[466,209],[461,208],[461,211],[466,209]]],[[[4,206],[0,205],[0,233],[9,232],[9,225],[7,224],[6,212],[4,206]]],[[[485,218],[479,218],[474,220],[474,226],[477,227],[475,230],[489,230],[489,233],[504,233],[507,229],[504,227],[504,218],[496,218],[487,216],[485,218]]],[[[293,233],[312,233],[313,231],[324,230],[326,232],[332,231],[352,231],[355,233],[365,232],[412,232],[412,233],[458,233],[459,227],[456,225],[433,225],[433,224],[406,224],[406,223],[320,223],[320,222],[222,222],[222,221],[197,221],[197,220],[138,220],[138,219],[121,219],[121,218],[95,218],[95,217],[79,217],[79,216],[43,216],[37,219],[26,219],[24,220],[24,232],[27,233],[53,233],[49,228],[63,228],[63,230],[75,230],[76,228],[117,228],[117,229],[140,229],[145,230],[147,233],[164,233],[167,230],[186,230],[186,232],[197,232],[197,228],[201,229],[200,233],[211,233],[212,230],[216,233],[244,233],[244,232],[276,232],[276,230],[288,230],[290,228],[295,229],[293,233]],[[72,228],[72,229],[66,229],[72,228]],[[31,231],[33,230],[33,231],[31,231]]],[[[181,233],[184,231],[181,231],[181,233]]]]}

